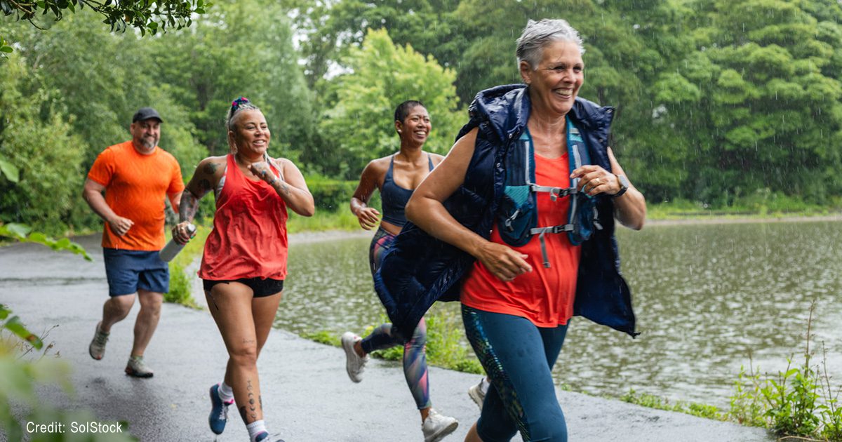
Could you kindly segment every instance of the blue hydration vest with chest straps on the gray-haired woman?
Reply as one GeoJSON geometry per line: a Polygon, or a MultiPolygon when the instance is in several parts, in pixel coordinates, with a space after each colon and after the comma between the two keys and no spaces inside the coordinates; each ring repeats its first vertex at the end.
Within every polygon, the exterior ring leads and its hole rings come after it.
{"type": "MultiPolygon", "coordinates": [[[[590,164],[588,146],[570,119],[567,119],[568,160],[570,172],[584,164],[590,164]]],[[[500,237],[513,247],[520,247],[530,241],[533,235],[541,240],[541,258],[544,267],[550,262],[546,255],[544,236],[547,233],[567,233],[570,242],[578,246],[593,234],[600,226],[594,197],[578,190],[579,178],[573,178],[568,189],[540,186],[535,180],[535,148],[529,130],[520,135],[507,155],[506,179],[504,182],[503,201],[497,213],[497,226],[500,237]],[[570,198],[568,223],[558,226],[537,226],[538,205],[536,195],[539,192],[550,194],[555,201],[559,197],[570,198]]]]}

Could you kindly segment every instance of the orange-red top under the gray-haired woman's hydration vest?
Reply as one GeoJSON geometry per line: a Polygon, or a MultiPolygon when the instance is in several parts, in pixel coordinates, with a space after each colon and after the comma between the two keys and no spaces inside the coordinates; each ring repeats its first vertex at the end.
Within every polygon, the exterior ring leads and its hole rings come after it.
{"type": "MultiPolygon", "coordinates": [[[[535,156],[536,184],[568,188],[570,170],[568,153],[562,157],[535,156]]],[[[569,197],[556,201],[546,192],[537,194],[538,226],[558,226],[568,223],[569,197]]],[[[497,222],[491,232],[491,241],[505,244],[498,232],[497,222]]],[[[537,327],[554,328],[567,324],[573,316],[573,299],[576,296],[576,278],[580,247],[573,246],[566,233],[544,235],[550,268],[544,267],[541,242],[538,235],[524,246],[514,250],[528,255],[526,262],[532,271],[520,274],[514,280],[503,282],[491,274],[479,261],[467,274],[461,290],[461,302],[466,306],[486,312],[504,313],[525,317],[537,327]]],[[[509,246],[511,247],[511,246],[509,246]]]]}

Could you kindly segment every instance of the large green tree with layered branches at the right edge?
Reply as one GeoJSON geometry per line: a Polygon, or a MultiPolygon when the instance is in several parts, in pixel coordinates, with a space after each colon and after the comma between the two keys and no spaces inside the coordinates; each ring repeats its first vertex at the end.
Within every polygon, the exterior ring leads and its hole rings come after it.
{"type": "Polygon", "coordinates": [[[680,194],[717,205],[755,189],[815,203],[839,194],[842,8],[778,0],[693,8],[695,51],[655,84],[665,111],[658,123],[685,139],[695,164],[680,194]]]}

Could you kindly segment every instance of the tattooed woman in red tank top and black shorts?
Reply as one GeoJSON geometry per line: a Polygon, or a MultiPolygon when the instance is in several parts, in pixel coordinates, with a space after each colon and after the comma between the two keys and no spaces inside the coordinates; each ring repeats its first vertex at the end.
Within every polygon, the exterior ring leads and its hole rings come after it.
{"type": "Polygon", "coordinates": [[[315,211],[304,176],[285,158],[270,158],[269,127],[248,99],[234,100],[227,118],[232,153],[207,157],[187,184],[173,227],[177,242],[189,241],[187,226],[199,200],[216,196],[213,231],[205,242],[199,276],[210,314],[228,350],[223,381],[210,387],[210,430],[225,429],[228,406],[237,402],[252,442],[269,442],[260,397],[257,359],[286,277],[287,208],[315,211]]]}

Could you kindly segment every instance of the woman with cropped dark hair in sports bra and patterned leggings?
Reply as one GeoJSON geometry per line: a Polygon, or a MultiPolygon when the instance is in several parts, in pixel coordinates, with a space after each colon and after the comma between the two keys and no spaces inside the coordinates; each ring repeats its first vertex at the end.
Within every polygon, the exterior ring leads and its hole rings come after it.
{"type": "MultiPolygon", "coordinates": [[[[377,226],[377,232],[369,248],[371,274],[380,266],[381,257],[391,247],[392,242],[407,222],[403,207],[407,205],[413,190],[424,180],[442,156],[424,152],[430,124],[429,114],[424,104],[419,101],[405,101],[395,109],[395,130],[401,140],[397,153],[388,157],[377,158],[365,166],[360,176],[360,184],[351,198],[351,212],[360,220],[360,226],[371,230],[377,226]],[[368,202],[375,189],[380,191],[382,201],[381,214],[368,202]]],[[[418,323],[412,337],[402,338],[392,328],[392,324],[381,324],[365,338],[347,332],[342,335],[342,346],[347,356],[346,369],[351,381],[362,381],[362,372],[368,354],[379,349],[388,349],[403,345],[403,374],[415,404],[421,413],[421,429],[427,442],[440,440],[456,429],[458,423],[436,413],[429,400],[427,381],[427,362],[425,343],[427,341],[424,319],[418,323]]]]}

